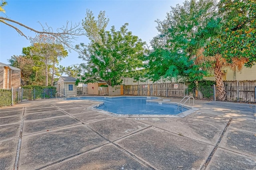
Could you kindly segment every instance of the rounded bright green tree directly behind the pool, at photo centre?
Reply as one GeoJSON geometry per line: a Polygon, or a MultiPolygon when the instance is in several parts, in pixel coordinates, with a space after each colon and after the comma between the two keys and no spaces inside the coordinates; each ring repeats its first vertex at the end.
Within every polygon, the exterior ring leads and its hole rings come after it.
{"type": "Polygon", "coordinates": [[[120,31],[112,26],[110,31],[100,33],[101,42],[92,41],[89,45],[80,44],[82,58],[86,64],[81,64],[83,73],[81,82],[105,81],[108,85],[120,85],[122,79],[128,77],[131,71],[143,66],[142,57],[145,42],[142,42],[132,32],[128,32],[124,24],[120,31]]]}

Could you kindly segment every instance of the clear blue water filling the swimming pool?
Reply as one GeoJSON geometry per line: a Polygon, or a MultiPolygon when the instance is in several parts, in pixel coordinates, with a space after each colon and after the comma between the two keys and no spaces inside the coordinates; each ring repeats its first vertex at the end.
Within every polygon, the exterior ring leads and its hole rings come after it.
{"type": "MultiPolygon", "coordinates": [[[[147,97],[72,97],[73,100],[103,101],[104,105],[97,107],[116,114],[130,115],[177,115],[182,111],[174,104],[146,102],[147,97]]],[[[157,99],[151,97],[151,99],[157,99]]],[[[188,109],[184,108],[183,111],[188,109]]]]}

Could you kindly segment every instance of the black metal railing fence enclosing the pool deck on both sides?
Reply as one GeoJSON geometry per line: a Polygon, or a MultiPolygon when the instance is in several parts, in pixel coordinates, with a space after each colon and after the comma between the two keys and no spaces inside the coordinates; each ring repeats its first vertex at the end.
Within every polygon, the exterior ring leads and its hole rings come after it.
{"type": "MultiPolygon", "coordinates": [[[[189,89],[184,84],[182,86],[174,88],[173,85],[124,85],[123,94],[176,98],[193,96],[200,100],[256,103],[255,86],[225,85],[225,87],[212,86],[197,89],[189,89]],[[224,93],[224,98],[220,93],[224,93]]],[[[0,89],[0,107],[14,105],[23,100],[54,98],[56,93],[55,89],[0,89]]]]}

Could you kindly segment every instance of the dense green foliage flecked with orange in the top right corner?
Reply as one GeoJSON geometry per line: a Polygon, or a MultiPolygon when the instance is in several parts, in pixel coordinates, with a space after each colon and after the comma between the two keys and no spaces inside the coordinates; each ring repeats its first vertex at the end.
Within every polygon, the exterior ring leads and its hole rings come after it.
{"type": "Polygon", "coordinates": [[[221,0],[222,32],[207,47],[205,53],[220,54],[228,63],[246,59],[246,66],[256,62],[256,1],[221,0]]]}

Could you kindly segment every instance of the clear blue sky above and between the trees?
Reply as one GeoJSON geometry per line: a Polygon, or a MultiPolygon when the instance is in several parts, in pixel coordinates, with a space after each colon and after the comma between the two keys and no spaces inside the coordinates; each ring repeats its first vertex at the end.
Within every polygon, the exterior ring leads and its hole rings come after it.
{"type": "MultiPolygon", "coordinates": [[[[91,10],[94,16],[106,11],[110,22],[106,30],[115,26],[116,30],[124,23],[129,23],[128,30],[143,41],[150,44],[150,40],[158,34],[156,19],[164,20],[166,12],[170,12],[170,6],[182,4],[184,0],[6,0],[7,16],[38,31],[42,27],[51,26],[54,30],[66,25],[67,21],[73,24],[82,22],[86,9],[91,10]]],[[[18,27],[26,36],[34,37],[34,32],[18,27]]],[[[86,36],[80,36],[75,42],[89,43],[86,36]]],[[[20,36],[14,29],[0,23],[0,62],[8,64],[7,59],[12,55],[21,55],[22,47],[30,46],[30,41],[20,36]]],[[[71,51],[68,57],[60,62],[60,65],[69,66],[83,63],[78,59],[78,53],[71,51]]]]}

